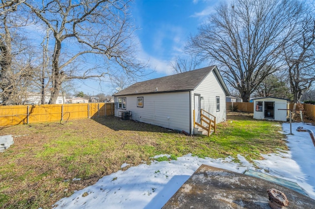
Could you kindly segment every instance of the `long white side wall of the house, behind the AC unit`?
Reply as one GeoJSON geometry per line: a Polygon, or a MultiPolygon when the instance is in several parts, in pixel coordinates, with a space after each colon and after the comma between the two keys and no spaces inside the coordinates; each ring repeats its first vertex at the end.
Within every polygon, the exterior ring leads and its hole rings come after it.
{"type": "Polygon", "coordinates": [[[131,111],[132,120],[189,132],[189,92],[117,96],[115,106],[117,117],[131,111]],[[143,97],[143,107],[137,107],[137,97],[143,97]],[[118,109],[118,98],[126,98],[126,110],[118,109]]]}

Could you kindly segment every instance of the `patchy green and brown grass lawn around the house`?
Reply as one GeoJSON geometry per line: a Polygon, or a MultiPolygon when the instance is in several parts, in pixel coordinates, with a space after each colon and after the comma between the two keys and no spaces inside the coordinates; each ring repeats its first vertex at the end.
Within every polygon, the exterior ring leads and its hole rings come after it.
{"type": "Polygon", "coordinates": [[[280,123],[254,120],[247,113],[227,117],[210,137],[115,117],[1,128],[0,135],[13,135],[14,145],[0,153],[0,208],[51,208],[74,190],[121,170],[123,163],[150,163],[159,154],[172,159],[188,153],[212,158],[241,154],[252,161],[260,153],[287,149],[280,123]]]}

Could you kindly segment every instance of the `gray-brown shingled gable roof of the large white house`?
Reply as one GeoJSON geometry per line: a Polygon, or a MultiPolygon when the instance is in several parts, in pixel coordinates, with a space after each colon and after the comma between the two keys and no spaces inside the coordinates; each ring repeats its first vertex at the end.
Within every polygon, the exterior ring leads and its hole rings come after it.
{"type": "Polygon", "coordinates": [[[215,65],[172,76],[137,82],[116,93],[114,96],[191,91],[194,90],[212,71],[214,71],[217,76],[225,95],[228,96],[229,91],[215,65]]]}

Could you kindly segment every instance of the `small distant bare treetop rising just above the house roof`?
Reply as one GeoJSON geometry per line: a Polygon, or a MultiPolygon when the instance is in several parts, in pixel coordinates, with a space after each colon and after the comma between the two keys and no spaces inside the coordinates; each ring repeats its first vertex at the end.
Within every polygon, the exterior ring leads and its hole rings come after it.
{"type": "Polygon", "coordinates": [[[189,58],[177,56],[170,62],[170,66],[173,68],[174,72],[178,74],[196,69],[201,62],[201,59],[196,56],[190,55],[189,58]]]}

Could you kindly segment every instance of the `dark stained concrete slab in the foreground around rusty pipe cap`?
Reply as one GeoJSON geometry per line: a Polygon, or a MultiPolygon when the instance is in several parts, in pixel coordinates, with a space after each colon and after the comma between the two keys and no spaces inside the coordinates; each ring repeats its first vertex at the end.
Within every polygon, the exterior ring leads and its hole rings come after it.
{"type": "Polygon", "coordinates": [[[270,209],[267,189],[286,195],[285,209],[314,209],[315,200],[282,185],[201,165],[163,209],[270,209]]]}

